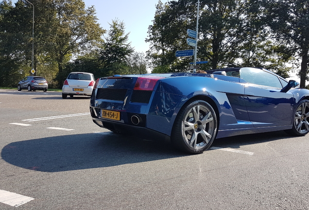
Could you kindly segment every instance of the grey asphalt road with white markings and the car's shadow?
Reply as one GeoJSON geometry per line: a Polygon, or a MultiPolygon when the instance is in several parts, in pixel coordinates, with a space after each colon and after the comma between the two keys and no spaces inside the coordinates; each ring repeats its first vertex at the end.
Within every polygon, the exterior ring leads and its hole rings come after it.
{"type": "Polygon", "coordinates": [[[0,89],[0,210],[309,210],[308,165],[308,136],[187,155],[98,127],[89,97],[0,89]]]}

